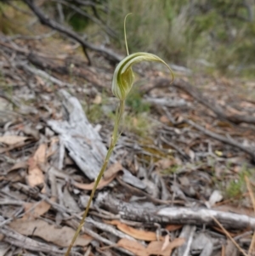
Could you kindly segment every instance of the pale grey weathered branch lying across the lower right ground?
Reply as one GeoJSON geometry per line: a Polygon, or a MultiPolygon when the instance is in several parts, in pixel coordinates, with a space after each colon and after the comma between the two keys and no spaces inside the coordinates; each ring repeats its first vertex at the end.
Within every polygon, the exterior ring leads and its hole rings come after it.
{"type": "Polygon", "coordinates": [[[122,219],[143,223],[214,225],[213,216],[226,228],[255,230],[255,218],[244,214],[220,212],[207,208],[144,208],[129,202],[122,202],[106,193],[99,194],[96,204],[111,213],[120,214],[122,219]]]}

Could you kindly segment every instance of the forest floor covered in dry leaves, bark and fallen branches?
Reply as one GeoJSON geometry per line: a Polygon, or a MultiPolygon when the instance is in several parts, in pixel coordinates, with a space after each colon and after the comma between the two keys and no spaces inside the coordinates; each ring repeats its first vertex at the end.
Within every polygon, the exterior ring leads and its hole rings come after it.
{"type": "MultiPolygon", "coordinates": [[[[97,52],[88,65],[79,44],[33,26],[32,37],[0,34],[0,255],[65,253],[117,106],[115,65],[97,52]]],[[[252,255],[254,80],[173,66],[170,84],[161,65],[147,64],[135,73],[122,135],[71,254],[252,255]]]]}

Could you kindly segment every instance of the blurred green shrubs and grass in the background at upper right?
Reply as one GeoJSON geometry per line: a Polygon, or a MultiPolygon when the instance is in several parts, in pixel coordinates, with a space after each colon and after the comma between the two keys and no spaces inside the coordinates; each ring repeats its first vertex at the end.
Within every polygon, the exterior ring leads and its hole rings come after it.
{"type": "Polygon", "coordinates": [[[119,34],[120,20],[133,13],[127,25],[132,51],[143,48],[191,68],[194,60],[207,60],[214,70],[225,75],[244,74],[247,69],[255,73],[252,1],[108,0],[107,3],[110,9],[107,23],[119,34]]]}

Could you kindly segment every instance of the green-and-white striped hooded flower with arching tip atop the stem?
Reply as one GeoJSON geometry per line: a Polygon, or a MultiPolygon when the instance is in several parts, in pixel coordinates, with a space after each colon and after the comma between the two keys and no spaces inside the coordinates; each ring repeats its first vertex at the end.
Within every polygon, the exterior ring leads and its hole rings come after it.
{"type": "MultiPolygon", "coordinates": [[[[127,98],[127,94],[133,87],[134,75],[132,65],[144,60],[161,62],[162,64],[167,65],[164,60],[161,60],[161,58],[159,58],[155,54],[136,53],[127,55],[127,57],[116,66],[116,70],[114,71],[112,79],[111,90],[112,93],[119,100],[125,100],[127,98]]],[[[167,68],[169,69],[173,77],[173,72],[168,65],[167,68]]]]}

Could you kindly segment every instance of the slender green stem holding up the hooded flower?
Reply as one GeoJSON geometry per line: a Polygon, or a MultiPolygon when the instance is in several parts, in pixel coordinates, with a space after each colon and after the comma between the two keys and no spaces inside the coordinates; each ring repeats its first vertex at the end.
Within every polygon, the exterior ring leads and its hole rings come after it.
{"type": "Polygon", "coordinates": [[[88,200],[88,204],[87,204],[87,207],[86,207],[86,210],[85,212],[83,213],[82,215],[82,220],[77,228],[77,231],[75,233],[75,235],[72,237],[72,240],[71,240],[71,243],[65,253],[65,256],[69,256],[70,252],[71,252],[71,247],[73,247],[74,243],[76,242],[77,240],[77,236],[79,236],[79,233],[80,231],[82,230],[82,226],[84,225],[84,222],[85,222],[85,219],[88,215],[88,210],[89,210],[89,207],[90,207],[90,204],[93,200],[93,197],[94,197],[94,193],[97,189],[97,186],[99,185],[99,181],[100,179],[102,178],[104,172],[105,172],[105,169],[107,168],[107,164],[110,160],[110,156],[111,156],[111,153],[116,145],[116,142],[118,140],[118,129],[119,129],[119,126],[120,126],[120,122],[122,121],[122,115],[123,115],[123,112],[124,112],[124,109],[125,109],[125,101],[124,100],[121,100],[120,101],[120,105],[119,105],[119,108],[116,112],[116,120],[115,120],[115,124],[114,124],[114,128],[113,128],[113,133],[112,133],[112,137],[111,137],[111,145],[107,151],[107,154],[105,156],[105,161],[103,163],[103,166],[99,172],[99,175],[97,177],[97,179],[95,179],[95,183],[94,183],[94,187],[93,187],[93,190],[91,191],[91,194],[90,194],[90,197],[89,197],[89,200],[88,200]]]}

